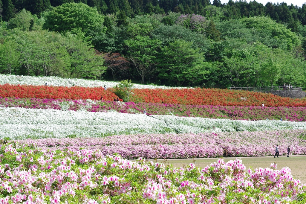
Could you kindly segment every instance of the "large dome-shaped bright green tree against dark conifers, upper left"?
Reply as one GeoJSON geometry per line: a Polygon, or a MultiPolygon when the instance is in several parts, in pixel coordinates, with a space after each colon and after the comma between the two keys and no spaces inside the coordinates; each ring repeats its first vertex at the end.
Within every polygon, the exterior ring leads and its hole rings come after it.
{"type": "Polygon", "coordinates": [[[104,17],[100,15],[96,8],[91,8],[83,3],[65,3],[51,10],[43,24],[44,29],[57,32],[79,32],[88,33],[90,30],[101,30],[104,17]]]}

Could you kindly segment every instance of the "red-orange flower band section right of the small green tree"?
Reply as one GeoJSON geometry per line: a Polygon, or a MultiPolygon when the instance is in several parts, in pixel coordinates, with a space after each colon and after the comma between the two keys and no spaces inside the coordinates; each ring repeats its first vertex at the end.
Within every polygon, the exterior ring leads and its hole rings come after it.
{"type": "Polygon", "coordinates": [[[222,105],[222,106],[306,106],[304,99],[291,99],[273,94],[229,89],[134,89],[133,102],[222,105]]]}

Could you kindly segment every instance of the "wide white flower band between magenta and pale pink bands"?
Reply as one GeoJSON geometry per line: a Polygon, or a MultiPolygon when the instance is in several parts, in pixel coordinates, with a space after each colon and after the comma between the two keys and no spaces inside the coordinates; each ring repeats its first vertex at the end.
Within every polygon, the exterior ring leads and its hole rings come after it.
{"type": "Polygon", "coordinates": [[[138,133],[203,133],[306,129],[306,122],[188,118],[117,112],[0,108],[0,138],[103,137],[138,133]]]}

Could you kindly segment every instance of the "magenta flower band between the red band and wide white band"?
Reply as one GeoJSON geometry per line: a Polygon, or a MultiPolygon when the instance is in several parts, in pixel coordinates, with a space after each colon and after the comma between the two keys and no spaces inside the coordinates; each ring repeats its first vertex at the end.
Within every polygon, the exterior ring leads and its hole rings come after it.
{"type": "Polygon", "coordinates": [[[213,106],[213,105],[184,105],[114,102],[98,100],[69,100],[69,99],[22,99],[2,98],[2,107],[40,108],[62,110],[60,103],[67,103],[68,110],[78,111],[81,108],[91,112],[115,110],[120,113],[140,113],[144,109],[147,115],[177,115],[203,118],[226,118],[239,120],[276,119],[289,121],[306,121],[306,107],[261,107],[261,106],[213,106]]]}

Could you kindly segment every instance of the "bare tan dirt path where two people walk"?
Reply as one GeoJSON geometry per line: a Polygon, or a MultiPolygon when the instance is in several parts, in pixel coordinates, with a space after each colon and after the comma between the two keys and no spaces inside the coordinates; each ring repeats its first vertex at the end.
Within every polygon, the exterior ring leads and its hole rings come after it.
{"type": "MultiPolygon", "coordinates": [[[[251,168],[266,168],[270,167],[270,164],[275,162],[277,164],[277,169],[283,167],[289,167],[291,169],[291,174],[294,178],[300,179],[302,183],[306,183],[306,156],[305,155],[295,155],[295,156],[280,156],[279,158],[274,157],[238,157],[242,160],[242,163],[247,167],[251,168]]],[[[223,158],[225,162],[236,159],[235,157],[223,158]]],[[[207,165],[217,161],[218,158],[204,158],[195,159],[196,166],[204,168],[207,165]]],[[[164,160],[158,160],[159,162],[164,160]]],[[[174,167],[182,167],[182,165],[188,165],[193,162],[193,159],[169,159],[167,163],[173,164],[174,167]]]]}

